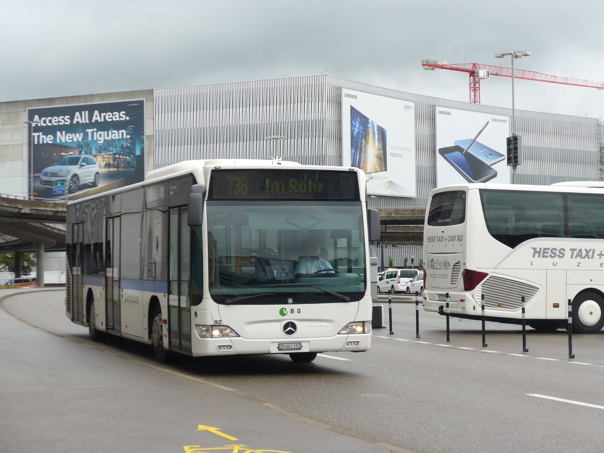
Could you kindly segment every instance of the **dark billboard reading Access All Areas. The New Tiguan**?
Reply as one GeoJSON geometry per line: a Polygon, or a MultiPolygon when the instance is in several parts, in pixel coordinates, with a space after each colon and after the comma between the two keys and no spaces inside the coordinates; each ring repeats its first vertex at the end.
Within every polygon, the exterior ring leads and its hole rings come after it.
{"type": "Polygon", "coordinates": [[[143,181],[143,99],[30,108],[27,120],[37,198],[80,198],[143,181]]]}

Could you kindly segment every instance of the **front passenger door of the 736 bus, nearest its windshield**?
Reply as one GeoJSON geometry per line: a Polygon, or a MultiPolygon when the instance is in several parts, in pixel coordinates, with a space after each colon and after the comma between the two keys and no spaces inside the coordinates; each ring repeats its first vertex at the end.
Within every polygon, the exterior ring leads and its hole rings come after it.
{"type": "Polygon", "coordinates": [[[189,297],[190,228],[187,207],[170,209],[169,330],[170,350],[191,353],[191,300],[189,297]]]}

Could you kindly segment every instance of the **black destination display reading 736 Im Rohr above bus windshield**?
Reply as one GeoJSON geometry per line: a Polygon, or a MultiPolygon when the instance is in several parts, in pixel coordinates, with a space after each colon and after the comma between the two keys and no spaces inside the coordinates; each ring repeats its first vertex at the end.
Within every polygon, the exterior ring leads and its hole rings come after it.
{"type": "Polygon", "coordinates": [[[359,201],[356,172],[213,170],[209,199],[359,201]]]}

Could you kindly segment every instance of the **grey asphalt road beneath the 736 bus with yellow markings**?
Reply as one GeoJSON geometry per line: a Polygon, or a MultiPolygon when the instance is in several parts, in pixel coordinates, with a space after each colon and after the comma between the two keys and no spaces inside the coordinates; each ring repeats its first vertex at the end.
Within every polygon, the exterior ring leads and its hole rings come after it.
{"type": "Polygon", "coordinates": [[[602,451],[604,334],[574,335],[569,359],[563,330],[527,329],[522,352],[519,326],[487,323],[483,347],[479,322],[451,320],[446,342],[445,318],[420,311],[416,338],[414,304],[392,304],[391,334],[386,303],[367,353],[159,365],[89,341],[63,298],[1,302],[2,451],[602,451]]]}

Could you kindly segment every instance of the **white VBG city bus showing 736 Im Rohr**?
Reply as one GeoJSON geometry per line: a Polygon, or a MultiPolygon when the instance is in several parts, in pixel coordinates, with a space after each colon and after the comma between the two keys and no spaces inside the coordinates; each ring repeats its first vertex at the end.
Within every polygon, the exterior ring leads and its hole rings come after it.
{"type": "Polygon", "coordinates": [[[69,203],[66,314],[94,341],[152,344],[159,361],[367,351],[371,234],[361,170],[181,162],[69,203]],[[306,237],[330,269],[297,273],[306,237]]]}

